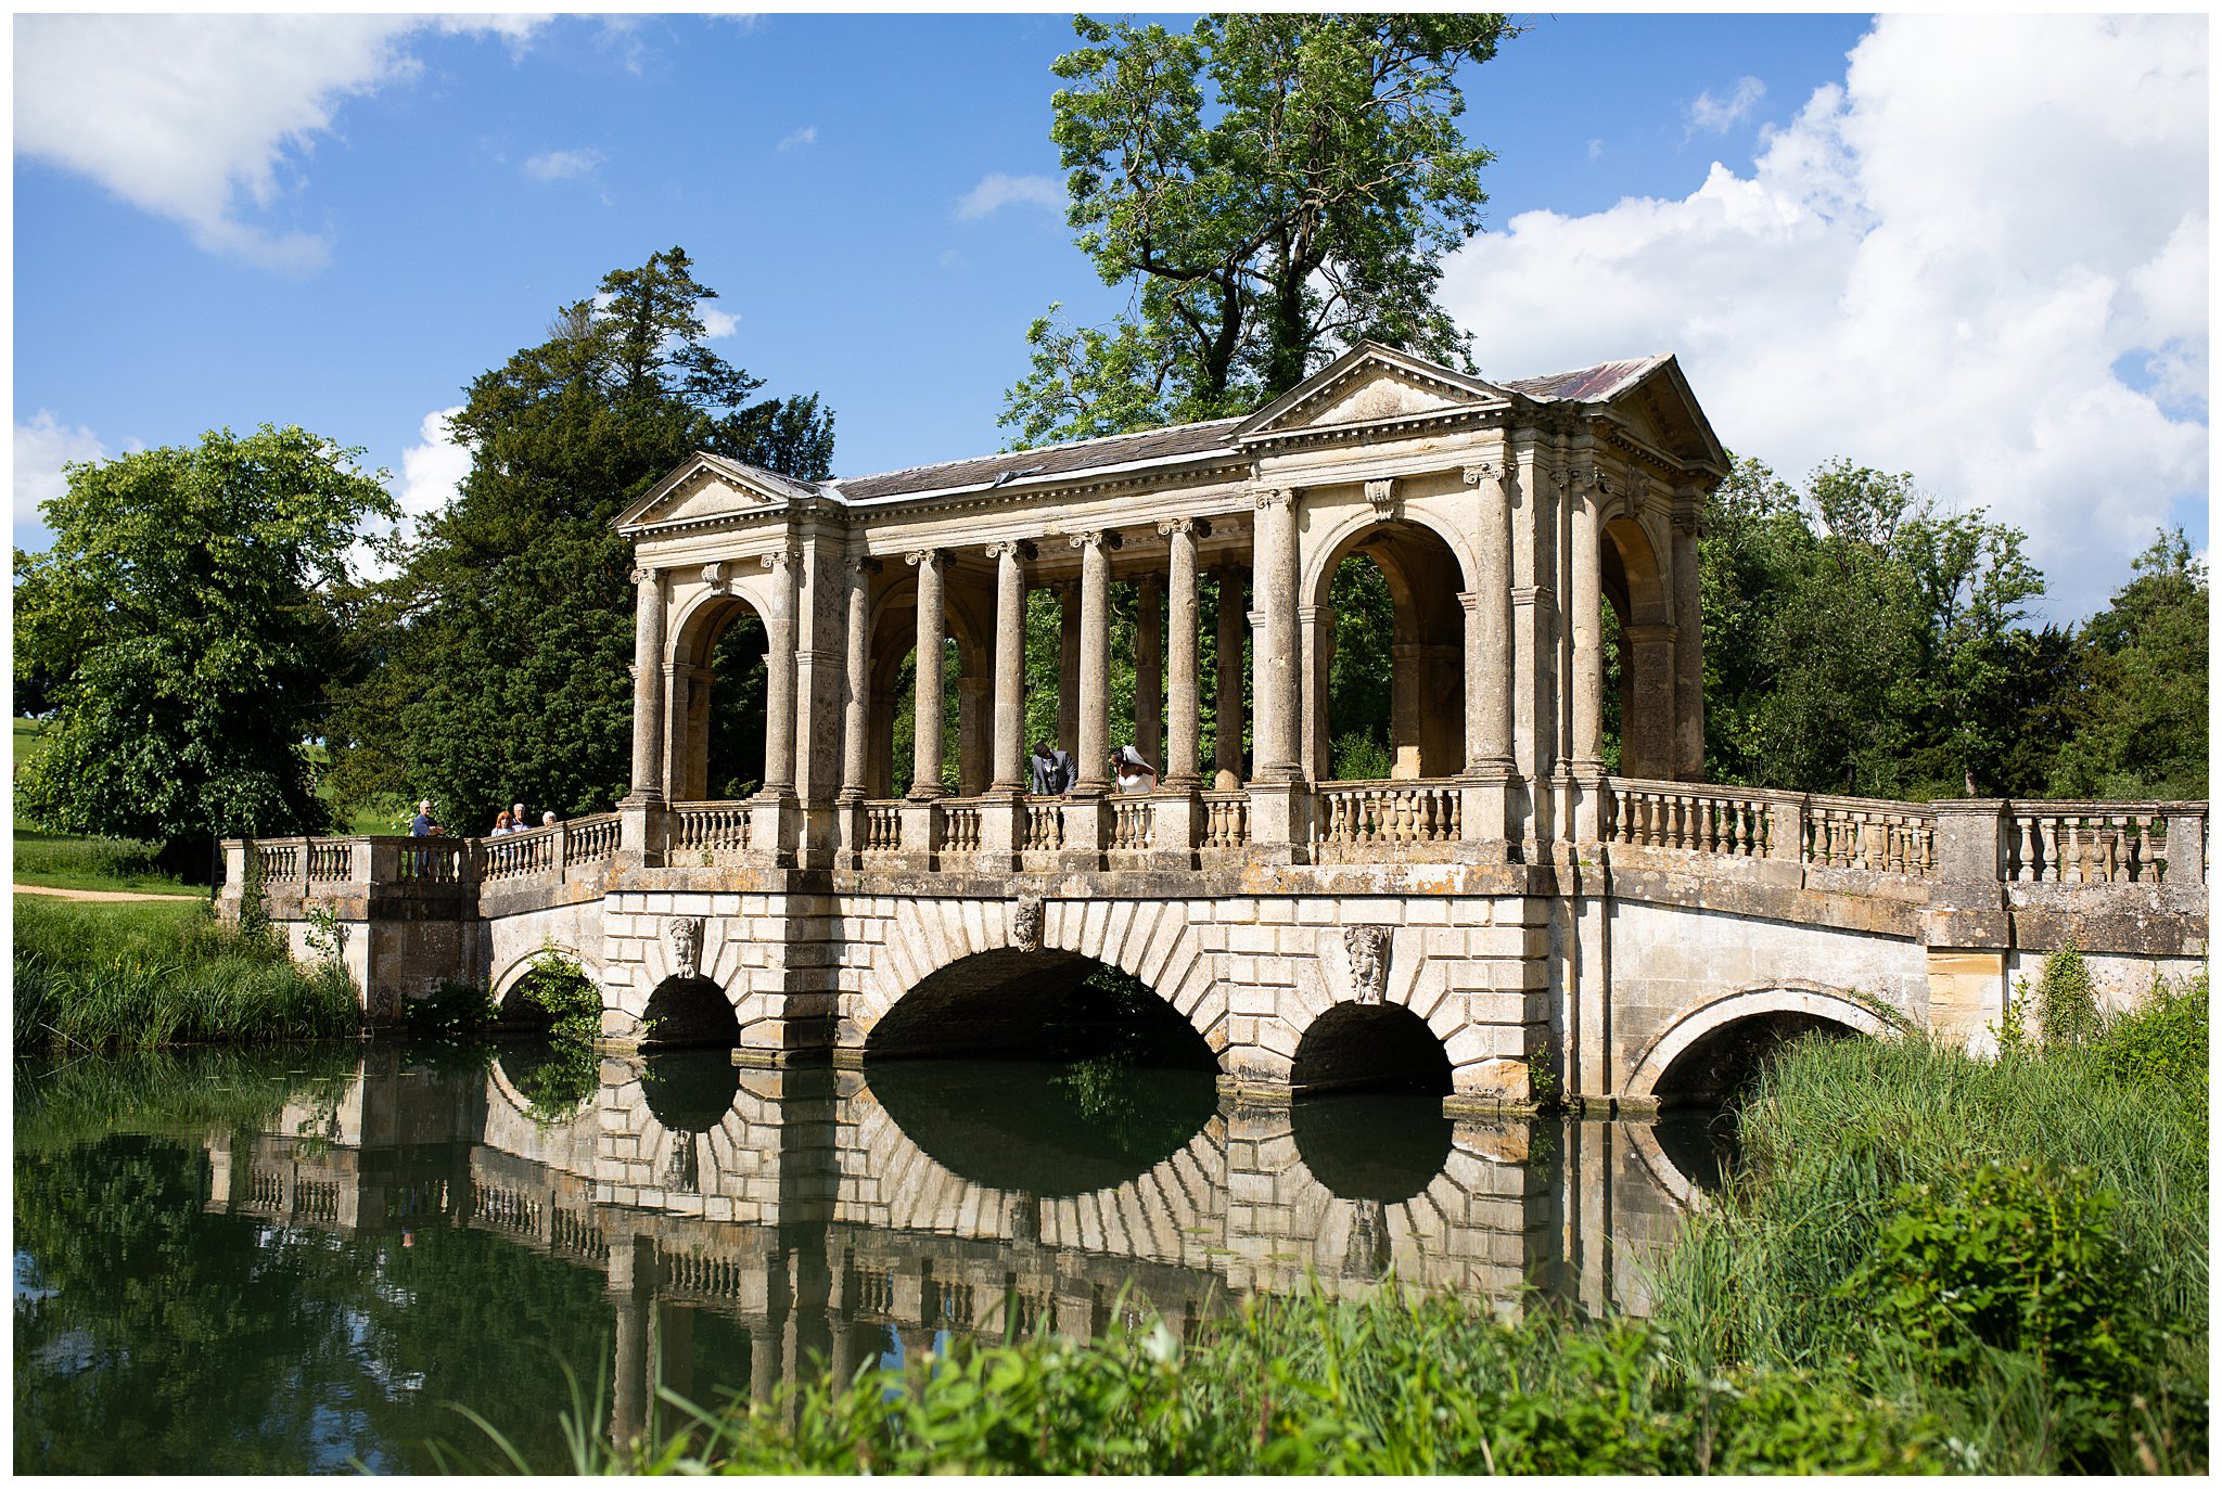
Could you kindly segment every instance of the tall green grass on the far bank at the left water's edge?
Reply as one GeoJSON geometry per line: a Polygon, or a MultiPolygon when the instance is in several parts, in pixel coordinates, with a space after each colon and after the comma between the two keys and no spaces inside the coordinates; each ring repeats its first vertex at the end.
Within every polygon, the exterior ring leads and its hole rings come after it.
{"type": "Polygon", "coordinates": [[[269,931],[207,905],[16,896],[16,1051],[264,1045],[356,1033],[356,989],[338,967],[302,969],[269,931]]]}

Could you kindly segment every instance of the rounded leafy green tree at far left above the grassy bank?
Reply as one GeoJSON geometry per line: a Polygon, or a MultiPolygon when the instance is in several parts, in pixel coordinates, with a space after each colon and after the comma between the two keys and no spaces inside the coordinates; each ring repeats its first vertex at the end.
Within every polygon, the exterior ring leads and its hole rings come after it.
{"type": "Polygon", "coordinates": [[[322,733],[364,518],[384,471],[302,429],[209,433],[67,467],[44,553],[16,553],[16,669],[60,716],[22,809],[58,831],[144,838],[196,867],[209,836],[322,831],[322,733]]]}

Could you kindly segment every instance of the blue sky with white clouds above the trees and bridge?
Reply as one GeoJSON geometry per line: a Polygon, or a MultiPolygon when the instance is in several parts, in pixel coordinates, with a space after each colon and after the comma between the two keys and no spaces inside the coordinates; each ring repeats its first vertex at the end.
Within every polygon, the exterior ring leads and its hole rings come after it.
{"type": "MultiPolygon", "coordinates": [[[[2158,522],[2204,547],[2204,18],[1522,20],[1467,78],[1498,164],[1444,280],[1487,376],[1678,351],[1740,453],[2026,527],[2060,618],[2158,522]],[[2071,87],[2078,144],[2024,127],[2071,87]],[[2122,204],[2075,227],[2078,180],[2122,204]]],[[[60,460],[218,424],[360,444],[422,509],[460,469],[429,416],[671,244],[840,473],[998,449],[1024,327],[1124,300],[1062,220],[1062,13],[13,31],[22,547],[60,460]]]]}

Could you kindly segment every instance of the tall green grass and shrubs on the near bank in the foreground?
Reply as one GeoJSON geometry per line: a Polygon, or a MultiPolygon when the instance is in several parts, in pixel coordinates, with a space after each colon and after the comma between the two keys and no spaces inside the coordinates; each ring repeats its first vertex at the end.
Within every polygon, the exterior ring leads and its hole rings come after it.
{"type": "Polygon", "coordinates": [[[2204,980],[1993,1062],[1815,1040],[1749,1100],[1746,1167],[1655,1320],[1313,1291],[1189,1340],[960,1342],[764,1405],[667,1398],[635,1453],[582,1407],[560,1467],[2204,1471],[2206,1127],[2204,980]]]}

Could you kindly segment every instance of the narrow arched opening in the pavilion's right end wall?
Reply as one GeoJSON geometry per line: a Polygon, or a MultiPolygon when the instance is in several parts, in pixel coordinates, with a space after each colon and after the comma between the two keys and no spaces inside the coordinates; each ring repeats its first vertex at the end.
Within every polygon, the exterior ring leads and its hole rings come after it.
{"type": "Polygon", "coordinates": [[[1642,522],[1624,516],[1604,522],[1598,580],[1604,767],[1638,780],[1673,780],[1673,613],[1642,522]]]}

